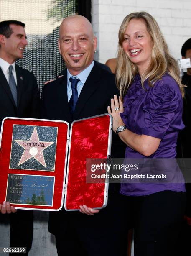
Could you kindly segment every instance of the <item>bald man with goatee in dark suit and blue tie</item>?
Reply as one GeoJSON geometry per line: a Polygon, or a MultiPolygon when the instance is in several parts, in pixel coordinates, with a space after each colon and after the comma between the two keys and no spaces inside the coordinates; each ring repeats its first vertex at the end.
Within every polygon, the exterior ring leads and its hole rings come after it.
{"type": "MultiPolygon", "coordinates": [[[[64,19],[58,46],[67,70],[61,78],[43,87],[41,118],[65,120],[71,125],[73,120],[107,113],[110,99],[118,90],[114,74],[93,61],[97,38],[91,23],[80,15],[64,19]]],[[[115,135],[113,142],[112,157],[123,157],[125,147],[115,135]]],[[[100,211],[84,205],[80,211],[50,212],[49,231],[56,236],[58,255],[125,255],[120,200],[118,187],[110,186],[108,205],[100,211]]]]}

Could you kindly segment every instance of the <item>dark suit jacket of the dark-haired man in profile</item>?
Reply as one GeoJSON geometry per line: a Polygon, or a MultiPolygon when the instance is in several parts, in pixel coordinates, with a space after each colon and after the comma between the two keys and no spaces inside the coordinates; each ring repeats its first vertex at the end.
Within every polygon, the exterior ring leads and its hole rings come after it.
{"type": "Polygon", "coordinates": [[[17,75],[17,107],[9,84],[0,68],[0,125],[3,118],[38,118],[39,92],[33,73],[15,65],[17,75]]]}

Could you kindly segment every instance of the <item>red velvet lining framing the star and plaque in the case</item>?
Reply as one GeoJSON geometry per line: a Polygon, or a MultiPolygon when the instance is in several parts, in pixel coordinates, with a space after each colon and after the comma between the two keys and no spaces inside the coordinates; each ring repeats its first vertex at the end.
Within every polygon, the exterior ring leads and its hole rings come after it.
{"type": "Polygon", "coordinates": [[[55,176],[53,206],[16,205],[16,204],[12,204],[12,205],[15,207],[38,208],[38,209],[59,209],[61,207],[63,180],[64,180],[64,165],[65,165],[65,156],[66,156],[67,129],[68,129],[68,126],[66,123],[54,122],[54,121],[41,121],[41,120],[36,121],[36,120],[24,120],[24,119],[21,120],[16,118],[15,119],[10,118],[4,121],[3,134],[1,139],[1,150],[0,150],[0,203],[2,203],[5,200],[8,173],[31,174],[31,175],[55,176]],[[54,172],[9,169],[13,124],[58,127],[56,162],[55,162],[54,172]]]}

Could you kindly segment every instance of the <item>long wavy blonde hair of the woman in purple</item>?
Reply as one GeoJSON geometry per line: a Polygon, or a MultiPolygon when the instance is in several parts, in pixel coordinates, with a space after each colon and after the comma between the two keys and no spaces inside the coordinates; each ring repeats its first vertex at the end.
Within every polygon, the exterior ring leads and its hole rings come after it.
{"type": "MultiPolygon", "coordinates": [[[[153,41],[153,49],[151,52],[151,61],[147,70],[141,76],[141,84],[146,79],[148,79],[148,84],[153,86],[158,79],[161,79],[163,74],[166,72],[175,79],[178,83],[182,97],[184,96],[183,84],[181,84],[180,79],[180,69],[178,67],[178,62],[171,56],[168,51],[168,46],[160,31],[160,28],[156,20],[146,12],[131,13],[125,17],[122,21],[119,31],[119,42],[117,51],[117,72],[116,72],[116,82],[117,87],[120,90],[120,95],[122,99],[124,98],[127,89],[130,87],[134,81],[135,74],[138,73],[138,68],[136,64],[132,63],[125,54],[122,43],[124,41],[124,35],[128,23],[132,19],[143,19],[145,20],[147,31],[153,41]]],[[[143,86],[144,88],[144,86],[143,86]]]]}

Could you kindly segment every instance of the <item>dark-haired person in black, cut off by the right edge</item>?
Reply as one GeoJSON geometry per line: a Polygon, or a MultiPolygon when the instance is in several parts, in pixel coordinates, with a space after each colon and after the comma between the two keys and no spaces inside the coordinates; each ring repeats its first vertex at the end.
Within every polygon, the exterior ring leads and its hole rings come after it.
{"type": "MultiPolygon", "coordinates": [[[[191,38],[189,38],[181,49],[182,59],[191,59],[191,38]]],[[[184,88],[185,96],[183,98],[183,123],[185,128],[180,131],[177,141],[177,158],[184,158],[186,167],[188,166],[188,159],[191,159],[191,68],[184,72],[182,83],[186,85],[184,88]]],[[[181,233],[181,251],[184,256],[190,255],[190,241],[191,241],[191,184],[186,183],[186,211],[185,222],[181,233]]]]}

